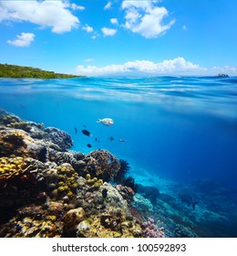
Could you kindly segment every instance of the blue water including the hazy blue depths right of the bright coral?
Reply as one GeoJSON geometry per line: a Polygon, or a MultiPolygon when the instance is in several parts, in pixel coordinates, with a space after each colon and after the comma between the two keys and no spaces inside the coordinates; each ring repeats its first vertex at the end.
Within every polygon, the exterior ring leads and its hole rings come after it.
{"type": "Polygon", "coordinates": [[[160,190],[140,190],[135,207],[168,237],[237,237],[237,78],[0,79],[0,109],[66,131],[71,150],[128,161],[160,190]]]}

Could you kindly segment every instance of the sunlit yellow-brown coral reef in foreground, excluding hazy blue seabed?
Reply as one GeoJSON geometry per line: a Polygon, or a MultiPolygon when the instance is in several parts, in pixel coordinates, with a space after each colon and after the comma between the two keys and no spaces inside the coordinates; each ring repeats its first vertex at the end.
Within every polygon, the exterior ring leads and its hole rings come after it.
{"type": "Polygon", "coordinates": [[[63,131],[0,110],[0,237],[149,235],[133,215],[134,180],[109,183],[127,162],[107,150],[68,151],[71,145],[63,131]]]}

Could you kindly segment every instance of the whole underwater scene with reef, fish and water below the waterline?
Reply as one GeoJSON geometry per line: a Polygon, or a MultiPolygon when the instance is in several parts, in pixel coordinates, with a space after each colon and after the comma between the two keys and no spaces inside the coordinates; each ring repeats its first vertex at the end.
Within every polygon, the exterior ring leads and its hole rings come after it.
{"type": "Polygon", "coordinates": [[[237,237],[237,78],[0,79],[0,237],[237,237]]]}

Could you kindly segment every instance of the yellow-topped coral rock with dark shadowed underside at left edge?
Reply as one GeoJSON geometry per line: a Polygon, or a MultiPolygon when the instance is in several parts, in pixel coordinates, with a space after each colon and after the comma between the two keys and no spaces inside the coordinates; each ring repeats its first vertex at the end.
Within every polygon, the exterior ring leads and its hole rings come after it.
{"type": "Polygon", "coordinates": [[[45,166],[33,158],[0,158],[0,211],[35,202],[44,187],[45,166]]]}

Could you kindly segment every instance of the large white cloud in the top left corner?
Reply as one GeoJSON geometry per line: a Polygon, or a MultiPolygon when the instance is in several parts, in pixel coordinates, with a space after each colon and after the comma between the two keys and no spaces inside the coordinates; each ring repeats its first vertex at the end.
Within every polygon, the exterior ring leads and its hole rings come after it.
{"type": "Polygon", "coordinates": [[[0,2],[0,22],[25,21],[41,28],[52,27],[52,32],[61,34],[78,27],[79,20],[70,7],[65,1],[4,1],[0,2]]]}

